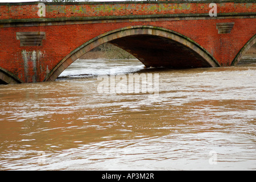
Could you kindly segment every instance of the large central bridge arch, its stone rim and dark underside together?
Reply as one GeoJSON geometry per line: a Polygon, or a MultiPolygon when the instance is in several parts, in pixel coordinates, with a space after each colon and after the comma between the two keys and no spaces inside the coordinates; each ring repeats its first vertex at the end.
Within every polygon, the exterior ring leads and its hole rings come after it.
{"type": "Polygon", "coordinates": [[[178,32],[154,26],[129,26],[106,32],[82,44],[61,60],[44,81],[55,80],[79,57],[106,42],[125,49],[146,67],[220,67],[206,49],[178,32]]]}

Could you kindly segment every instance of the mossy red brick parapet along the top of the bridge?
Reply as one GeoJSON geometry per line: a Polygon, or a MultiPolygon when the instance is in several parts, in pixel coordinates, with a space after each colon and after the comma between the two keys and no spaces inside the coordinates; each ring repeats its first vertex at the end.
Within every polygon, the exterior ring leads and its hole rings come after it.
{"type": "MultiPolygon", "coordinates": [[[[0,3],[0,23],[15,19],[78,18],[134,15],[195,15],[209,14],[213,1],[157,1],[157,2],[72,2],[45,3],[46,14],[38,16],[38,2],[0,3]]],[[[219,14],[250,14],[256,12],[255,1],[214,1],[219,14]]]]}

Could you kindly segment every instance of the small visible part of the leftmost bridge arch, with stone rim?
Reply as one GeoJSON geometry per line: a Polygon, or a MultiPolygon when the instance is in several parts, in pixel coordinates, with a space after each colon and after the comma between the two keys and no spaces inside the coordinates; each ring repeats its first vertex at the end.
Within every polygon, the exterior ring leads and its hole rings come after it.
{"type": "Polygon", "coordinates": [[[0,67],[0,84],[21,84],[23,81],[20,80],[13,73],[0,67]]]}

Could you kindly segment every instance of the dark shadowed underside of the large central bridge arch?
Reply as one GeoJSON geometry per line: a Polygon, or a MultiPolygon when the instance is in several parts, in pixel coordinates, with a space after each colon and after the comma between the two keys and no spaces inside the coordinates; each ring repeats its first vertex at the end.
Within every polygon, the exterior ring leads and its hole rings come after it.
{"type": "Polygon", "coordinates": [[[161,36],[131,35],[111,40],[109,43],[131,53],[148,68],[212,67],[193,49],[161,36]]]}

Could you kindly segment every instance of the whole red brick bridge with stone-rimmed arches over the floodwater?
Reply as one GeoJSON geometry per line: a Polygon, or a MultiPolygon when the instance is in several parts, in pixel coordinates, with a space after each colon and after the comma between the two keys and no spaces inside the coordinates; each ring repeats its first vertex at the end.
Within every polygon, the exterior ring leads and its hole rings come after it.
{"type": "Polygon", "coordinates": [[[0,83],[55,80],[106,42],[146,67],[171,68],[235,65],[256,42],[255,1],[75,2],[43,8],[38,2],[0,3],[0,83]],[[217,16],[209,15],[212,2],[217,16]]]}

